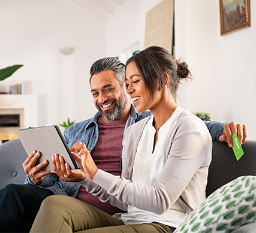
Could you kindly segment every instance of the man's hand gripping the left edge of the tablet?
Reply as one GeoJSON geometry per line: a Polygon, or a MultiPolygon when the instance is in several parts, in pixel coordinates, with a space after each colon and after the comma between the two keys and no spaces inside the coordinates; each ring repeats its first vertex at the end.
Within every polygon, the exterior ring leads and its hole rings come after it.
{"type": "Polygon", "coordinates": [[[41,156],[40,152],[36,152],[35,150],[33,150],[29,154],[28,158],[26,158],[26,160],[22,164],[25,173],[28,174],[30,180],[34,184],[40,184],[44,179],[44,175],[50,174],[50,171],[41,171],[41,169],[46,164],[48,164],[47,160],[45,160],[45,161],[41,162],[40,164],[38,164],[37,166],[35,166],[35,163],[37,162],[37,160],[40,156],[41,156]]]}

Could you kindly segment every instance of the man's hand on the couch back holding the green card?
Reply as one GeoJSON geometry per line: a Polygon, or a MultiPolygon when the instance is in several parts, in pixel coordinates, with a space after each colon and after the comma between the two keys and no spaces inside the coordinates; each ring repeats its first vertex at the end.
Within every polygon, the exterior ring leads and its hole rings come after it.
{"type": "Polygon", "coordinates": [[[223,128],[223,135],[219,137],[220,141],[227,141],[229,147],[233,147],[232,135],[236,132],[237,137],[242,145],[248,136],[248,127],[236,122],[227,123],[223,128]]]}

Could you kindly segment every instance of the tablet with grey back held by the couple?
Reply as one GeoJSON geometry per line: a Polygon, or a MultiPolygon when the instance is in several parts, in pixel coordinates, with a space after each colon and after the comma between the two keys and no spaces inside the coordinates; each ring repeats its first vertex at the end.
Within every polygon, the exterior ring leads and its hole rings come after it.
{"type": "Polygon", "coordinates": [[[53,171],[52,156],[55,154],[62,156],[72,170],[77,169],[76,161],[58,125],[19,129],[17,135],[28,155],[33,150],[41,152],[37,164],[40,164],[44,160],[49,162],[49,164],[42,168],[42,171],[53,171]]]}

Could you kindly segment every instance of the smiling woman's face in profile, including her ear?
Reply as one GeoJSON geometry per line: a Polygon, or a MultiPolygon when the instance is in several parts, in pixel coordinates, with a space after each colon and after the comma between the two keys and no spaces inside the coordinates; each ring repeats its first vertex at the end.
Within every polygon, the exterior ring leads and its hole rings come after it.
{"type": "Polygon", "coordinates": [[[127,65],[125,71],[125,84],[127,93],[131,96],[138,112],[141,113],[148,109],[152,111],[152,109],[156,107],[159,91],[155,90],[154,98],[152,99],[152,95],[149,92],[149,89],[146,88],[134,62],[130,62],[127,65]]]}

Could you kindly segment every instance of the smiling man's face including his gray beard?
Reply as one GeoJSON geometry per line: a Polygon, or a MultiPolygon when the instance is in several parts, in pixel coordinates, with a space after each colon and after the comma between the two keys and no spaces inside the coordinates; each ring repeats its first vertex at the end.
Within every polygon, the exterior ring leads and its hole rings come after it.
{"type": "Polygon", "coordinates": [[[91,92],[94,104],[104,119],[113,122],[121,117],[128,95],[116,80],[115,72],[108,70],[92,75],[91,92]]]}

